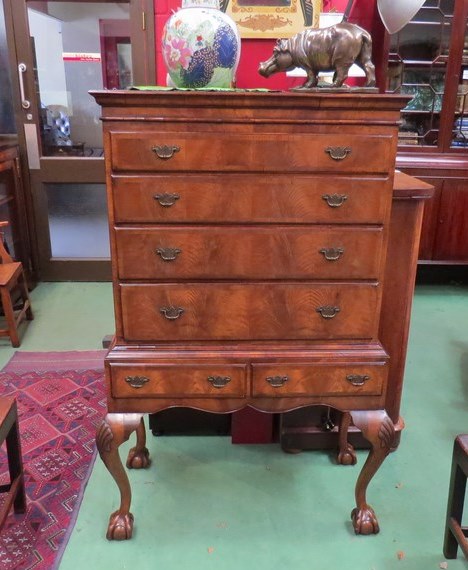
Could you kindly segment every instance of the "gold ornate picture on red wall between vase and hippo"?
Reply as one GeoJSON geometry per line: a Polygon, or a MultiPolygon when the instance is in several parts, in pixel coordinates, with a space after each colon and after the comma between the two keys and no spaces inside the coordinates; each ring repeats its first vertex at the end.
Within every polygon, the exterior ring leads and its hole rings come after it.
{"type": "Polygon", "coordinates": [[[289,38],[318,28],[323,0],[221,0],[242,38],[289,38]]]}

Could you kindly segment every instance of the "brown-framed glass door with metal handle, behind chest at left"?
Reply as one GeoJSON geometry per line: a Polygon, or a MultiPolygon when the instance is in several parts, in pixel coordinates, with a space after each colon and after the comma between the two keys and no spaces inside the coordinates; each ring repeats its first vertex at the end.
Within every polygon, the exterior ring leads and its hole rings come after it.
{"type": "Polygon", "coordinates": [[[100,108],[88,92],[155,83],[153,0],[3,3],[40,278],[108,280],[100,108]]]}

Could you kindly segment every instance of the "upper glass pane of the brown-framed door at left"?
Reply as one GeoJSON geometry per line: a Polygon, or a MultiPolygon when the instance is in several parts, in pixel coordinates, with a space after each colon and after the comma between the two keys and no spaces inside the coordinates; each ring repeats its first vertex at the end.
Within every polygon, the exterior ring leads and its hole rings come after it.
{"type": "Polygon", "coordinates": [[[128,3],[37,2],[28,6],[42,156],[102,156],[100,109],[91,89],[132,82],[128,3]]]}

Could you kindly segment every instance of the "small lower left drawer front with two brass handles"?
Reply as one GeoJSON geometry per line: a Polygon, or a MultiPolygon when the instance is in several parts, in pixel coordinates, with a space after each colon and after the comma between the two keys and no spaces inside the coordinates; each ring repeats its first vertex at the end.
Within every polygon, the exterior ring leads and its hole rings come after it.
{"type": "Polygon", "coordinates": [[[247,394],[243,364],[111,364],[115,398],[243,398],[247,394]]]}

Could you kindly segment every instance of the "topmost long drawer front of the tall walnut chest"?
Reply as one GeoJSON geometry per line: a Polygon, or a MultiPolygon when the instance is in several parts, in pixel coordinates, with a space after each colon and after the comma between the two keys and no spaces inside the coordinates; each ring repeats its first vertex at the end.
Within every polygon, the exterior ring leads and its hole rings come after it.
{"type": "Polygon", "coordinates": [[[391,136],[111,132],[115,171],[388,172],[391,136]]]}

